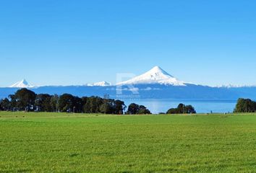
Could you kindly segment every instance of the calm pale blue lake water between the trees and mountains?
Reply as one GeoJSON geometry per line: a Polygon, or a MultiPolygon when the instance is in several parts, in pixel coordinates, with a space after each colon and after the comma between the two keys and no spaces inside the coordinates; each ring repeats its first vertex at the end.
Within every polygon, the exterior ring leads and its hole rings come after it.
{"type": "Polygon", "coordinates": [[[168,109],[177,107],[179,103],[192,105],[197,113],[223,113],[233,112],[236,106],[234,99],[127,99],[125,105],[135,102],[144,105],[153,113],[167,112],[168,109]]]}

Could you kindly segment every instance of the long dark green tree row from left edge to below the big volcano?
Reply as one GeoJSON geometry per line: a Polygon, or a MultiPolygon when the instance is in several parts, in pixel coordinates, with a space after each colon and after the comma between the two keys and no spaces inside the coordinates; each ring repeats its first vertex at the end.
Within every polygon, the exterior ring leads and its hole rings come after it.
{"type": "Polygon", "coordinates": [[[119,99],[101,97],[76,97],[72,94],[35,94],[29,89],[19,89],[15,94],[0,100],[0,110],[27,112],[83,112],[104,114],[151,114],[143,105],[127,106],[119,99]]]}

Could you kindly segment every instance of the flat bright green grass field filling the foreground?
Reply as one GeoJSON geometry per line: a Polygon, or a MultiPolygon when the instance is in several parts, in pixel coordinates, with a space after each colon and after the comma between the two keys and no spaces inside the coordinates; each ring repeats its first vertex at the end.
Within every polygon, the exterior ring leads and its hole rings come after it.
{"type": "Polygon", "coordinates": [[[252,114],[0,116],[0,172],[256,172],[252,114]]]}

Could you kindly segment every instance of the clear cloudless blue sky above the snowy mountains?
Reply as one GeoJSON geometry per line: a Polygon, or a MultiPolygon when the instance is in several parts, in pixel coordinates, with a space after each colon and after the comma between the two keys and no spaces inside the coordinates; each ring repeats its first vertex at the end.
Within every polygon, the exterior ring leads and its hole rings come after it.
{"type": "Polygon", "coordinates": [[[116,82],[161,66],[197,84],[256,84],[256,1],[8,0],[0,86],[116,82]]]}

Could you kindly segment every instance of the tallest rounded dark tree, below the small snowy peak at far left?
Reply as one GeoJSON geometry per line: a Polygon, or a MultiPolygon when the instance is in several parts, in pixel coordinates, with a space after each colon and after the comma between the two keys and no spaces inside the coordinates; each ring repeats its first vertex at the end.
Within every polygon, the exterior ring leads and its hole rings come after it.
{"type": "Polygon", "coordinates": [[[15,102],[17,110],[32,111],[35,109],[35,92],[28,89],[19,89],[14,95],[11,95],[12,103],[15,102]]]}

